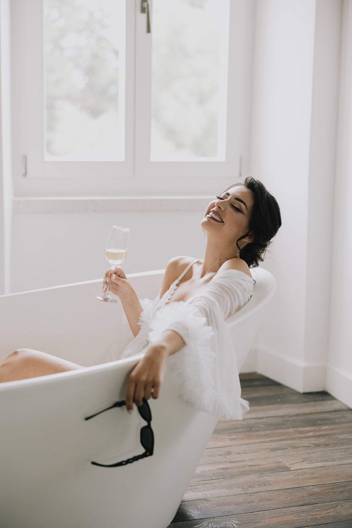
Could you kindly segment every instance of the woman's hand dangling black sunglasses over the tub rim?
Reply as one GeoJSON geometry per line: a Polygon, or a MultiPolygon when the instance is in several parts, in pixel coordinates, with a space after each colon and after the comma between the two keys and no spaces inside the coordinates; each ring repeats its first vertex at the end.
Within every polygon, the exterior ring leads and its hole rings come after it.
{"type": "Polygon", "coordinates": [[[158,398],[163,383],[168,358],[166,346],[150,345],[146,354],[132,370],[126,391],[126,407],[133,410],[133,402],[137,407],[143,403],[143,398],[158,398]]]}

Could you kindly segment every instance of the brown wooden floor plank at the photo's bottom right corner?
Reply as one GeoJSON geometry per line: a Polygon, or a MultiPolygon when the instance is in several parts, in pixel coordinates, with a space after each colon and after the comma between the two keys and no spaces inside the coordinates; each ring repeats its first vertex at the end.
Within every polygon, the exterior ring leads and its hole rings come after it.
{"type": "Polygon", "coordinates": [[[314,526],[322,521],[352,521],[352,501],[336,501],[327,504],[310,504],[253,513],[240,513],[203,520],[191,520],[172,523],[169,528],[259,528],[261,526],[280,526],[282,528],[303,528],[314,526]],[[215,522],[214,522],[215,521],[215,522]]]}

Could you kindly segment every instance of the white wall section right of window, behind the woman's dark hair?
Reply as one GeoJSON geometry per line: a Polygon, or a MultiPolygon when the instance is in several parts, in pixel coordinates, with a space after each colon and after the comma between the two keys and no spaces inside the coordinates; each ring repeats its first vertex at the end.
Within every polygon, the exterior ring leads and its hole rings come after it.
{"type": "Polygon", "coordinates": [[[260,0],[256,8],[251,173],[282,211],[263,265],[278,287],[256,340],[258,371],[323,390],[341,4],[260,0]]]}

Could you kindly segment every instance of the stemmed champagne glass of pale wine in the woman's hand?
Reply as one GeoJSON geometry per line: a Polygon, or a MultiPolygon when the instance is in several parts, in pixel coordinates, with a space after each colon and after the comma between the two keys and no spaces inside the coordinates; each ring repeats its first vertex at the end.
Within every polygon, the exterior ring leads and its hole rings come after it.
{"type": "MultiPolygon", "coordinates": [[[[115,270],[115,267],[120,266],[120,264],[126,259],[128,237],[128,228],[121,228],[119,225],[112,226],[105,250],[105,258],[110,264],[110,271],[115,270]]],[[[103,294],[99,295],[97,299],[103,300],[106,303],[117,303],[117,300],[113,299],[110,295],[110,284],[111,280],[109,280],[108,287],[105,290],[103,289],[103,294]]]]}

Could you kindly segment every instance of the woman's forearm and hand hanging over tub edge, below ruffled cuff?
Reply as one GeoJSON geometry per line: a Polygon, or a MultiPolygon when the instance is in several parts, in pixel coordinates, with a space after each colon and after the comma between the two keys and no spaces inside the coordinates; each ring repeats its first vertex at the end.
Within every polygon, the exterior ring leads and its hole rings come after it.
{"type": "Polygon", "coordinates": [[[126,406],[128,412],[133,409],[135,401],[137,407],[147,400],[158,398],[161,384],[163,383],[166,362],[168,356],[175,354],[185,346],[183,338],[173,330],[163,332],[158,340],[154,341],[148,348],[144,357],[139,360],[131,372],[127,391],[126,406]]]}

